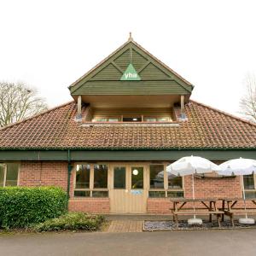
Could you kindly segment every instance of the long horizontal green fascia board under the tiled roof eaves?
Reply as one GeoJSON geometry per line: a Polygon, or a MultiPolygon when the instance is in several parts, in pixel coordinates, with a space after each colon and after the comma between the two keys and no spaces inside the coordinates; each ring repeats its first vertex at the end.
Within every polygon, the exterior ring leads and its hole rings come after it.
{"type": "MultiPolygon", "coordinates": [[[[256,160],[255,149],[237,150],[70,150],[72,161],[120,160],[178,160],[183,156],[198,155],[209,160],[250,158],[256,160]]],[[[1,150],[0,161],[68,160],[66,150],[1,150]]]]}

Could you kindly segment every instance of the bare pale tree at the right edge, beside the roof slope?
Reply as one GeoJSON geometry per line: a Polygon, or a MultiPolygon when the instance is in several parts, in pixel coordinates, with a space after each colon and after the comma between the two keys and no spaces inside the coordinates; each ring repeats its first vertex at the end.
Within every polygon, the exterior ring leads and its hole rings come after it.
{"type": "Polygon", "coordinates": [[[256,77],[248,74],[245,79],[246,91],[241,97],[241,113],[249,120],[256,122],[256,77]]]}

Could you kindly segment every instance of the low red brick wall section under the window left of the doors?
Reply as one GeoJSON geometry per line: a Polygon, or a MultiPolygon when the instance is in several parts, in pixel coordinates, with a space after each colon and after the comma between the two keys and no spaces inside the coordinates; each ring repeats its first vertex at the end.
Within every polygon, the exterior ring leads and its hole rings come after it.
{"type": "Polygon", "coordinates": [[[71,199],[68,206],[71,212],[108,213],[109,209],[109,198],[71,199]]]}

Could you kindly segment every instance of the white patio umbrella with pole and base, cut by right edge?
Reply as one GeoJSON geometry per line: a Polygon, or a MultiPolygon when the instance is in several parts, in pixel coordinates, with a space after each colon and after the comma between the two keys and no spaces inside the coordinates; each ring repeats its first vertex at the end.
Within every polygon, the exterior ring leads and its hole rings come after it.
{"type": "MultiPolygon", "coordinates": [[[[240,175],[241,176],[241,186],[242,186],[242,197],[244,202],[244,209],[247,210],[246,200],[245,200],[245,191],[243,184],[243,175],[251,175],[256,173],[256,160],[246,159],[246,158],[238,158],[234,160],[228,160],[221,165],[219,165],[221,171],[218,171],[218,175],[224,176],[233,176],[240,175]]],[[[240,218],[239,223],[241,224],[254,224],[255,220],[253,218],[240,218]]]]}

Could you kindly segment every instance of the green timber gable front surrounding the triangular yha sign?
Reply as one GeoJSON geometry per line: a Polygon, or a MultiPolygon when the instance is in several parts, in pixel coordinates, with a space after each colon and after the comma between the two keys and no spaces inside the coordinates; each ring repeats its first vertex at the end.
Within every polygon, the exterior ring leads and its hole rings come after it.
{"type": "Polygon", "coordinates": [[[100,95],[99,90],[102,89],[103,95],[141,95],[141,86],[143,86],[144,91],[147,91],[148,95],[151,93],[153,95],[189,95],[193,90],[193,85],[172,72],[133,41],[125,43],[112,55],[109,55],[105,61],[102,61],[100,65],[72,84],[69,89],[73,96],[100,95]],[[122,74],[125,73],[125,69],[130,63],[137,71],[141,81],[120,81],[122,74]],[[109,81],[114,83],[109,84],[109,81]],[[169,81],[172,81],[172,83],[169,83],[169,81]],[[129,89],[127,87],[131,86],[131,83],[136,86],[128,93],[127,90],[129,89]],[[165,83],[165,87],[160,83],[165,83]]]}

